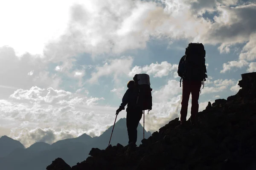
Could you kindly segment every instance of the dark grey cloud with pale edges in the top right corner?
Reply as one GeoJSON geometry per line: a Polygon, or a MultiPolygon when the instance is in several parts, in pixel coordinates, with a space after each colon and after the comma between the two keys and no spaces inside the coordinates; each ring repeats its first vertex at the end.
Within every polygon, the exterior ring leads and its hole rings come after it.
{"type": "Polygon", "coordinates": [[[221,43],[221,49],[236,43],[246,42],[255,32],[256,21],[250,17],[256,14],[256,4],[249,3],[235,7],[218,5],[219,16],[214,16],[214,23],[209,27],[207,43],[221,43]],[[211,42],[209,42],[211,41],[211,42]]]}

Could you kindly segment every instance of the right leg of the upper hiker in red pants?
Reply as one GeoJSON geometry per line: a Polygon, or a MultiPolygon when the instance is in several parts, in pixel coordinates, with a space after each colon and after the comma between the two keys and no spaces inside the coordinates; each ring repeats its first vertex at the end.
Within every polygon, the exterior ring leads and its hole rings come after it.
{"type": "Polygon", "coordinates": [[[192,95],[192,106],[191,106],[191,119],[194,120],[196,114],[198,113],[199,104],[198,99],[200,95],[200,88],[202,82],[193,82],[191,84],[191,95],[192,95]]]}

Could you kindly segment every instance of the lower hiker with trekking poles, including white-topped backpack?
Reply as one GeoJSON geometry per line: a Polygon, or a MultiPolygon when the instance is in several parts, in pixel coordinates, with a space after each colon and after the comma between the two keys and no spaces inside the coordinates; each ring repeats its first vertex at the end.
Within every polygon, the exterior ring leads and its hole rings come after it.
{"type": "Polygon", "coordinates": [[[147,74],[136,74],[134,81],[129,81],[127,87],[128,89],[122,98],[122,103],[119,109],[117,109],[116,114],[125,110],[125,105],[127,105],[126,126],[129,138],[128,144],[136,145],[137,127],[142,118],[143,111],[152,109],[152,89],[150,88],[149,76],[147,74]]]}

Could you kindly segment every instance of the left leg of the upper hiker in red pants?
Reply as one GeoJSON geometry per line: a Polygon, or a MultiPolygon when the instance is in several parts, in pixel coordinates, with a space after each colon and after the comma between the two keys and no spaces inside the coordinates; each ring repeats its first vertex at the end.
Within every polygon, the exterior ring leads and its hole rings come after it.
{"type": "Polygon", "coordinates": [[[180,110],[180,122],[186,122],[186,116],[188,112],[189,105],[189,96],[190,96],[190,82],[183,80],[182,83],[182,100],[181,100],[181,110],[180,110]]]}

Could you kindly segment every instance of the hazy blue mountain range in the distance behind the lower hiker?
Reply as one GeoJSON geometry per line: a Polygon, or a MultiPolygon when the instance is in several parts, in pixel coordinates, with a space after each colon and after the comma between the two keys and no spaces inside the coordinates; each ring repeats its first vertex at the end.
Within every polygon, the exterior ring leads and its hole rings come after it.
{"type": "MultiPolygon", "coordinates": [[[[113,125],[109,127],[102,135],[91,137],[83,134],[76,138],[64,139],[53,144],[44,142],[36,142],[28,148],[9,137],[8,140],[21,144],[22,147],[9,150],[8,154],[0,158],[0,169],[2,170],[45,170],[47,165],[52,163],[55,158],[62,158],[67,164],[76,165],[89,156],[89,152],[93,147],[106,148],[111,136],[113,125]]],[[[150,132],[145,131],[145,138],[151,136],[150,132]]],[[[141,144],[143,139],[143,126],[138,126],[137,144],[141,144]]],[[[1,139],[0,139],[1,141],[1,139]]],[[[6,140],[5,140],[6,141],[6,140]]],[[[126,128],[126,119],[122,118],[116,122],[111,138],[111,144],[121,143],[128,144],[128,135],[126,128]]],[[[0,145],[1,147],[2,145],[0,145]]],[[[5,145],[8,146],[8,142],[5,145]]],[[[11,147],[8,147],[11,148],[11,147]]]]}

